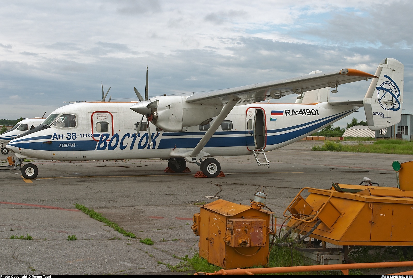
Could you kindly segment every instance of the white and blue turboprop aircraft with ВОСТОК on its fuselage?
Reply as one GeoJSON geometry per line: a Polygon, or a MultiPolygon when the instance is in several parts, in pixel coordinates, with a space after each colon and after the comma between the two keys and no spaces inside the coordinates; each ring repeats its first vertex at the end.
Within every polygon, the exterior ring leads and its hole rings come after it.
{"type": "Polygon", "coordinates": [[[199,165],[207,177],[216,177],[221,166],[212,156],[254,154],[259,165],[268,165],[264,151],[298,141],[361,106],[371,130],[399,123],[403,77],[403,64],[386,58],[375,75],[344,68],[192,96],[150,99],[146,78],[145,99],[135,89],[140,101],[133,105],[97,101],[63,106],[42,125],[10,141],[7,148],[15,153],[14,167],[26,179],[35,178],[38,168],[32,163],[21,165],[24,158],[161,158],[175,172],[183,172],[189,162],[199,165]],[[362,100],[328,101],[328,90],[323,89],[334,87],[334,93],[339,84],[370,78],[362,100]],[[299,95],[296,104],[260,102],[294,93],[299,95]]]}

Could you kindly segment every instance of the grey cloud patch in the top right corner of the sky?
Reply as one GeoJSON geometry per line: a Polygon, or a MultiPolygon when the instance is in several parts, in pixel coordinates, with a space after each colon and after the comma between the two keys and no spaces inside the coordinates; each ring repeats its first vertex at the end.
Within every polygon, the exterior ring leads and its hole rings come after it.
{"type": "Polygon", "coordinates": [[[377,47],[412,47],[411,2],[372,5],[360,12],[336,12],[327,24],[306,28],[302,33],[325,39],[330,43],[370,43],[377,47]]]}

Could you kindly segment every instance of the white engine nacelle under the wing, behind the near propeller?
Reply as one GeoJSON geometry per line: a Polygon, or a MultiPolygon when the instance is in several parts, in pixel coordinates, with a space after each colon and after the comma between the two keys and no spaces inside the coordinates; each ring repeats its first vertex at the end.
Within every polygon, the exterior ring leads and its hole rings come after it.
{"type": "Polygon", "coordinates": [[[205,120],[219,115],[223,105],[188,103],[189,96],[161,96],[152,123],[167,132],[181,131],[183,127],[200,125],[205,120]]]}

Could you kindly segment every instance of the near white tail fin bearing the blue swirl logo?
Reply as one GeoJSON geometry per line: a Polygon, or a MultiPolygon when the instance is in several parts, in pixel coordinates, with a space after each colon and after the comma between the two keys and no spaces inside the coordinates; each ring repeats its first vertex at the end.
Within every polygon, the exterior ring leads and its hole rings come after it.
{"type": "Polygon", "coordinates": [[[363,99],[367,125],[370,130],[400,123],[403,103],[404,65],[393,58],[386,58],[377,67],[376,76],[363,99]]]}

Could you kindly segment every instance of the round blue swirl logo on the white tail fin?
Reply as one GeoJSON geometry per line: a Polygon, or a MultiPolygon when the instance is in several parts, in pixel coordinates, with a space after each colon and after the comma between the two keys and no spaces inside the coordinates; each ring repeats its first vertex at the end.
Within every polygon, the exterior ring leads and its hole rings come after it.
{"type": "Polygon", "coordinates": [[[379,87],[376,87],[380,106],[384,110],[397,111],[401,107],[399,101],[400,89],[392,78],[387,75],[385,75],[385,78],[390,81],[385,81],[379,87]]]}

